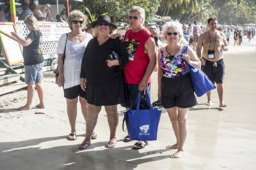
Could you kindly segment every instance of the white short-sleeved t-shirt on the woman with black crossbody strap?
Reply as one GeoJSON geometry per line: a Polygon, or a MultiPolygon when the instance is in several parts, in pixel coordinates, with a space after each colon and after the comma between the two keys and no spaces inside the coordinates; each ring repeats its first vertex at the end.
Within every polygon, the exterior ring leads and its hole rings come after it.
{"type": "MultiPolygon", "coordinates": [[[[64,53],[66,34],[61,35],[58,41],[57,53],[64,53]]],[[[64,89],[74,87],[80,84],[80,72],[81,72],[81,62],[84,56],[85,48],[92,39],[91,34],[86,33],[86,38],[81,43],[73,43],[68,41],[66,45],[66,54],[63,66],[64,74],[64,89]]]]}

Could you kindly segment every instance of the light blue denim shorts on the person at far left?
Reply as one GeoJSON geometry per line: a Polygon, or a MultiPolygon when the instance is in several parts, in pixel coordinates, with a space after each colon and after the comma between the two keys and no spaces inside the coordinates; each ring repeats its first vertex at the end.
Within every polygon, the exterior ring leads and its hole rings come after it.
{"type": "Polygon", "coordinates": [[[43,66],[44,66],[44,62],[42,62],[40,64],[24,66],[26,84],[41,83],[41,81],[42,81],[42,67],[43,66]]]}

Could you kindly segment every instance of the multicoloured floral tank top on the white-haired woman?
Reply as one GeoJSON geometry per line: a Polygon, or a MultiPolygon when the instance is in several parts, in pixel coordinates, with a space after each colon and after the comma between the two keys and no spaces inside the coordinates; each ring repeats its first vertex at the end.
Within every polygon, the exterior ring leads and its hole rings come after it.
{"type": "Polygon", "coordinates": [[[187,74],[188,71],[186,69],[185,60],[182,57],[182,54],[186,53],[188,46],[185,46],[181,53],[172,59],[170,56],[163,56],[163,48],[161,48],[161,56],[160,56],[160,68],[163,71],[163,76],[167,78],[175,78],[180,75],[187,74]]]}

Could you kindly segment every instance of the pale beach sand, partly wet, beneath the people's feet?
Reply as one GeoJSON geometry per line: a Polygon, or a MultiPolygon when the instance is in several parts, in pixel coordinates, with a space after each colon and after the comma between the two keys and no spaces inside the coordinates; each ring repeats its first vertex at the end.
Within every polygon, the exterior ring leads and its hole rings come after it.
{"type": "MultiPolygon", "coordinates": [[[[231,39],[231,38],[230,38],[231,39]]],[[[171,159],[176,150],[165,146],[175,143],[170,118],[163,109],[157,141],[149,141],[142,150],[132,150],[135,141],[124,143],[122,131],[124,108],[118,106],[118,143],[109,141],[109,127],[104,108],[100,111],[95,132],[87,150],[79,150],[84,139],[85,123],[77,104],[77,140],[68,141],[70,125],[63,89],[54,83],[52,72],[44,73],[45,109],[16,110],[26,104],[26,90],[0,97],[0,169],[255,169],[256,167],[256,39],[242,46],[230,41],[225,52],[224,101],[219,108],[218,94],[212,91],[212,106],[206,96],[188,114],[186,155],[171,159]],[[45,114],[35,114],[41,111],[45,114]]],[[[157,73],[152,74],[151,101],[157,99],[157,73]]],[[[0,88],[1,90],[1,88],[0,88]]]]}

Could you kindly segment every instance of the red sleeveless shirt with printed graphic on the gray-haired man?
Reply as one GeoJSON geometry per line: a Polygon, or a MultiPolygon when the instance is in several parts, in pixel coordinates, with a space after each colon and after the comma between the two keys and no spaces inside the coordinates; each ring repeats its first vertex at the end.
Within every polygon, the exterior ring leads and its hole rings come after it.
{"type": "MultiPolygon", "coordinates": [[[[145,28],[139,32],[132,32],[128,29],[124,36],[124,45],[129,54],[129,62],[124,67],[124,76],[126,83],[139,84],[145,75],[149,58],[145,53],[145,43],[153,35],[145,28]]],[[[151,83],[151,76],[148,78],[148,83],[151,83]]]]}

